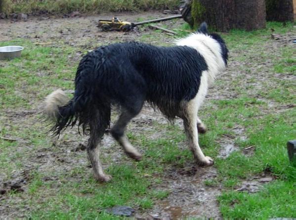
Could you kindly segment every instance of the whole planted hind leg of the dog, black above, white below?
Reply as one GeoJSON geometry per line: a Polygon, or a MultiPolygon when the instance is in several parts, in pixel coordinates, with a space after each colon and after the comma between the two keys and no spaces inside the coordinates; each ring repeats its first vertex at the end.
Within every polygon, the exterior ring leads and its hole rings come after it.
{"type": "Polygon", "coordinates": [[[110,121],[110,109],[106,112],[96,112],[89,123],[90,137],[87,143],[87,154],[91,162],[94,178],[100,182],[108,182],[111,176],[103,171],[100,162],[100,141],[110,121]]]}

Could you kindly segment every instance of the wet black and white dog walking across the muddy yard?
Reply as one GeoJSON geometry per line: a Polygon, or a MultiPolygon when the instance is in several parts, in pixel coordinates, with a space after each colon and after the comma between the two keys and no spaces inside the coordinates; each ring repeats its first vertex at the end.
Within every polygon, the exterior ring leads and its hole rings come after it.
{"type": "Polygon", "coordinates": [[[225,69],[227,58],[223,39],[209,34],[206,23],[173,47],[137,42],[102,46],[81,60],[74,97],[69,100],[62,90],[56,90],[45,99],[45,113],[54,119],[52,130],[57,135],[77,122],[84,133],[89,130],[87,153],[98,181],[111,179],[99,160],[99,142],[110,125],[113,105],[120,106],[121,114],[111,134],[129,157],[140,160],[142,156],[129,143],[125,128],[147,101],[169,119],[183,119],[196,161],[212,165],[198,144],[198,131],[206,131],[198,109],[215,75],[225,69]]]}

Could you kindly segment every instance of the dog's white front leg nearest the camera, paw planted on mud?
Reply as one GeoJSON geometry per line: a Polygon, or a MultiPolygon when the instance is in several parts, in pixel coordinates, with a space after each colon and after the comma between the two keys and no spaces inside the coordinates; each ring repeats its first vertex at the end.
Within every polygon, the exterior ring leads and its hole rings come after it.
{"type": "Polygon", "coordinates": [[[183,113],[183,123],[186,135],[189,140],[189,147],[198,164],[210,166],[213,164],[211,157],[206,157],[198,144],[198,130],[197,130],[197,98],[190,100],[186,105],[183,113]]]}

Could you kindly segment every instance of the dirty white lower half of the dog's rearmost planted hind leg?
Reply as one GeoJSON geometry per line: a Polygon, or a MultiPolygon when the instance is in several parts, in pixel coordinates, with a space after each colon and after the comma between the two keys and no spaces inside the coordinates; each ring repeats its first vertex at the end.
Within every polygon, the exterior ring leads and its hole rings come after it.
{"type": "Polygon", "coordinates": [[[104,173],[102,164],[100,162],[100,139],[101,137],[95,136],[92,133],[90,134],[87,144],[87,154],[91,162],[94,178],[100,182],[108,182],[112,177],[104,173]]]}

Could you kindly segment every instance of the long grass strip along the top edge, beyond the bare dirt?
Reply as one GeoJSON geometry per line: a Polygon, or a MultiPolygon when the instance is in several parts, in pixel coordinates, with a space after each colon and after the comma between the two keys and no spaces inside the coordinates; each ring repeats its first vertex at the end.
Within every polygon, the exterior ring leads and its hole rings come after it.
{"type": "Polygon", "coordinates": [[[73,11],[98,13],[102,11],[172,9],[178,4],[178,0],[3,0],[3,12],[6,14],[40,11],[51,14],[73,11]]]}

